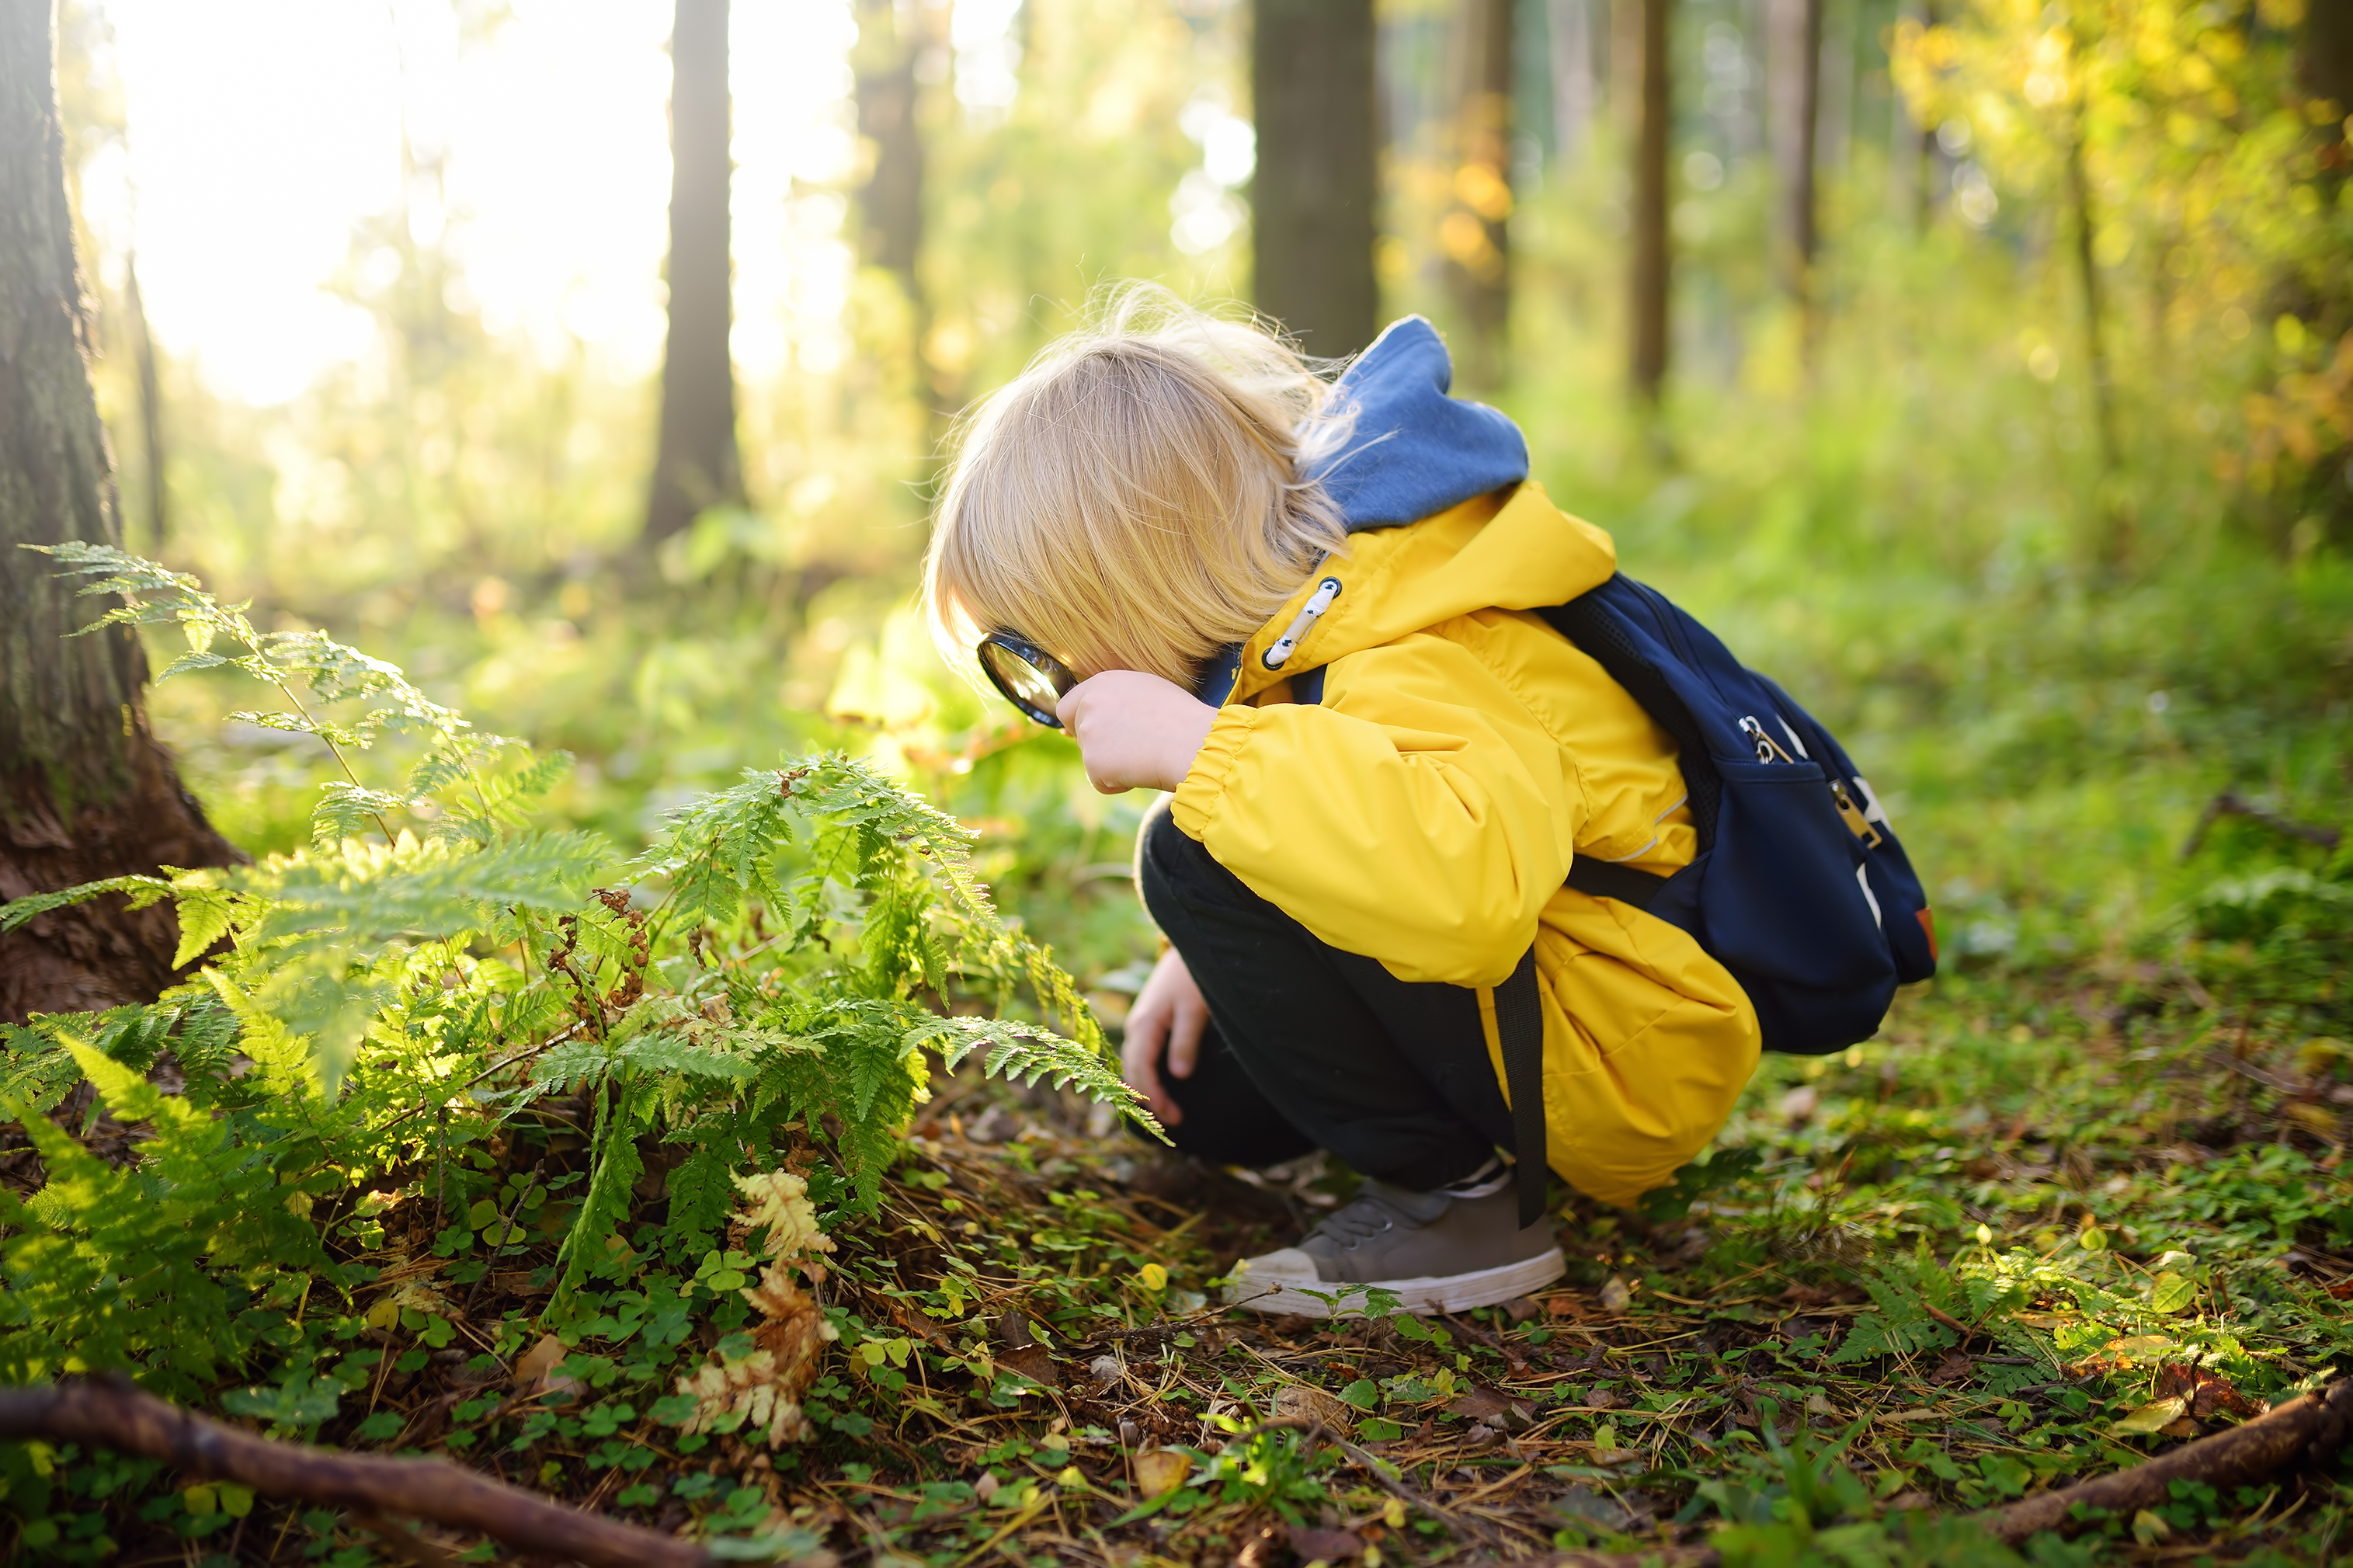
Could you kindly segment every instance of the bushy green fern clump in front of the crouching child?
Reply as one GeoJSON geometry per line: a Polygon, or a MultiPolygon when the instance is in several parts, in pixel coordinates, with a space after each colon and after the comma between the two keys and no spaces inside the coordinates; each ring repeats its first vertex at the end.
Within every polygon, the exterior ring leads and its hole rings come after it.
{"type": "MultiPolygon", "coordinates": [[[[198,965],[148,1008],[0,1036],[0,1095],[49,1172],[0,1215],[0,1377],[78,1361],[186,1389],[224,1366],[252,1373],[294,1342],[287,1304],[348,1285],[308,1220],[313,1194],[431,1182],[459,1203],[478,1182],[456,1161],[449,1191],[454,1156],[560,1090],[586,1095],[591,1125],[555,1318],[584,1283],[647,1262],[654,1231],[633,1229],[647,1137],[692,1149],[659,1231],[675,1262],[725,1222],[729,1168],[809,1144],[840,1168],[828,1201],[873,1212],[934,1052],[1075,1085],[1153,1125],[1071,975],[998,916],[972,833],[871,763],[748,770],[673,812],[614,876],[598,838],[534,819],[562,753],[478,732],[332,638],[261,631],[193,577],[45,549],[85,593],[122,596],[99,624],[186,640],[160,678],[266,683],[278,706],[240,718],[318,737],[341,777],[301,852],[0,906],[14,930],[108,892],[169,902],[179,961],[198,965]],[[391,735],[414,756],[362,777],[391,735]],[[974,1001],[998,1017],[972,1017],[974,1001]],[[146,1081],[167,1055],[181,1095],[146,1081]],[[80,1081],[153,1125],[134,1165],[111,1170],[45,1116],[80,1081]]],[[[445,1255],[478,1229],[445,1231],[445,1255]]],[[[292,1361],[268,1375],[308,1377],[292,1361]]]]}

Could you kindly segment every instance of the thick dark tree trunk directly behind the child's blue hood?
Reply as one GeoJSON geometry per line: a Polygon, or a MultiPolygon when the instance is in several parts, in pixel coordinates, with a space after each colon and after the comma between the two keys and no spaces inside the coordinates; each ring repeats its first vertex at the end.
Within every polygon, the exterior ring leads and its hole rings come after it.
{"type": "Polygon", "coordinates": [[[1249,94],[1257,306],[1308,353],[1355,353],[1381,327],[1372,0],[1259,0],[1249,94]]]}

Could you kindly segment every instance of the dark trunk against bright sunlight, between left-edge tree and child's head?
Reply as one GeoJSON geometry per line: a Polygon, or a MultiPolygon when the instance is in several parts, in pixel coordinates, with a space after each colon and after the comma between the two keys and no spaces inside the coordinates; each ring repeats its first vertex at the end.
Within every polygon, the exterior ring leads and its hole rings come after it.
{"type": "Polygon", "coordinates": [[[678,0],[671,28],[671,337],[645,537],[659,544],[706,506],[744,501],[727,353],[727,0],[678,0]]]}

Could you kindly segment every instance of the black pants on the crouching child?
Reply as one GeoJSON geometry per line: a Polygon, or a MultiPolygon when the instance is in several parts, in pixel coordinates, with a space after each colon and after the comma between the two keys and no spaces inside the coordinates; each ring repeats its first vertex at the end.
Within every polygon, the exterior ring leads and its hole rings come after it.
{"type": "Polygon", "coordinates": [[[1409,984],[1318,942],[1188,838],[1167,810],[1136,843],[1144,904],[1209,1001],[1169,1137],[1221,1165],[1329,1149],[1355,1170],[1428,1191],[1511,1147],[1478,994],[1409,984]]]}

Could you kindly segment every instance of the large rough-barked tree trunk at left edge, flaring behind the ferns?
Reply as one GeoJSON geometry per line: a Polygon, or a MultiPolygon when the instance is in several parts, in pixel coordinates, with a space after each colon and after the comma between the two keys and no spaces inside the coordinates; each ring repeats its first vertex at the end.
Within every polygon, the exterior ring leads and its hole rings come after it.
{"type": "MultiPolygon", "coordinates": [[[[146,655],[19,544],[120,544],[89,391],[94,327],[73,254],[47,0],[0,0],[0,902],[240,855],[146,725],[146,655]]],[[[0,1019],[153,1001],[169,909],[108,897],[0,937],[0,1019]]]]}

